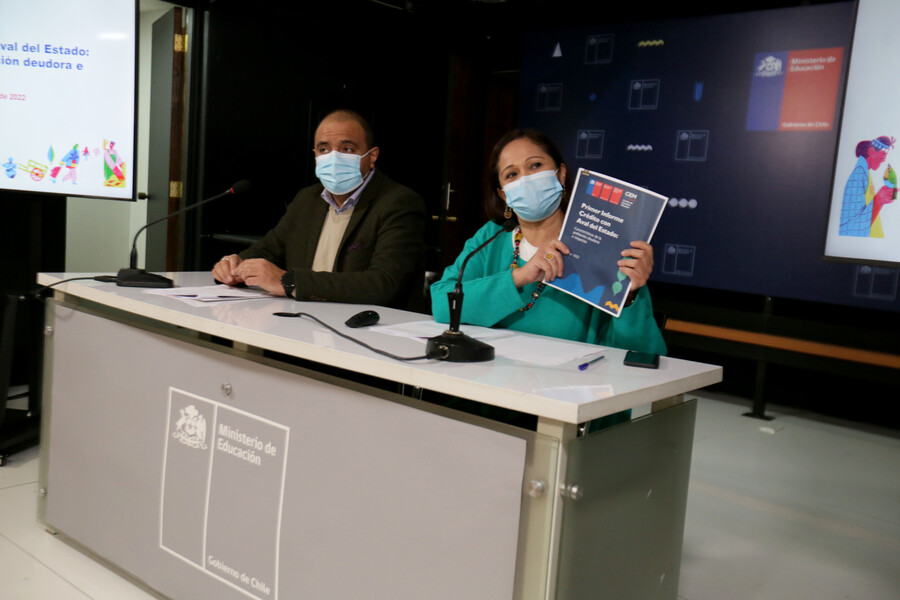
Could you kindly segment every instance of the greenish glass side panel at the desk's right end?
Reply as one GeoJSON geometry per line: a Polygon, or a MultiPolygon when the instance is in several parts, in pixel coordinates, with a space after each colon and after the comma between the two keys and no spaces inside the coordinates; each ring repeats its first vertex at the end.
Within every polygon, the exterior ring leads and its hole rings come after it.
{"type": "Polygon", "coordinates": [[[568,444],[558,598],[675,598],[697,402],[568,444]]]}

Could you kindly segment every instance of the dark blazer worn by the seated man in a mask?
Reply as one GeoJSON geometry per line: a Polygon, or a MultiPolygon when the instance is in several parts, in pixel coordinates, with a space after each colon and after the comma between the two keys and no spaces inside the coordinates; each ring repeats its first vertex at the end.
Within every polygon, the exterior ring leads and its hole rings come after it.
{"type": "Polygon", "coordinates": [[[297,300],[404,306],[421,280],[425,203],[376,169],[353,209],[333,272],[312,270],[331,206],[322,184],[300,190],[274,229],[240,253],[294,271],[297,300]]]}

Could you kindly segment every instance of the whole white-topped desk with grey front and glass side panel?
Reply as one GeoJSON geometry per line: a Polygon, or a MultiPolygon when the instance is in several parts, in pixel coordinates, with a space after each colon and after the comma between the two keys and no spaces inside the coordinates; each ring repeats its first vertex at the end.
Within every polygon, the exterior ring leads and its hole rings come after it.
{"type": "MultiPolygon", "coordinates": [[[[720,367],[626,367],[613,349],[584,372],[503,357],[399,362],[272,316],[302,310],[372,346],[424,354],[418,340],[346,328],[359,305],[193,308],[109,283],[55,289],[41,517],[157,594],[677,596],[695,412],[682,394],[720,381],[720,367]],[[532,414],[537,430],[373,382],[532,414]],[[582,425],[625,409],[630,421],[582,425]]],[[[382,324],[423,318],[377,310],[382,324]]]]}

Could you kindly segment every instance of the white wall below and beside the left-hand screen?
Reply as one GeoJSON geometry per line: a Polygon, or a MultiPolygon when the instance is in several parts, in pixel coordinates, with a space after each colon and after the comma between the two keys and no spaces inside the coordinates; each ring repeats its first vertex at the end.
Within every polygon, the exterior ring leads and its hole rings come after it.
{"type": "MultiPolygon", "coordinates": [[[[154,3],[153,6],[160,6],[154,3]]],[[[142,7],[144,7],[142,3],[142,7]]],[[[164,6],[164,5],[163,5],[164,6]]],[[[138,27],[137,190],[147,191],[150,131],[150,56],[153,22],[165,9],[144,10],[138,27]]],[[[66,271],[115,274],[128,266],[134,234],[147,223],[147,201],[68,198],[66,204],[66,271]]],[[[146,238],[138,239],[139,265],[144,264],[146,238]]]]}

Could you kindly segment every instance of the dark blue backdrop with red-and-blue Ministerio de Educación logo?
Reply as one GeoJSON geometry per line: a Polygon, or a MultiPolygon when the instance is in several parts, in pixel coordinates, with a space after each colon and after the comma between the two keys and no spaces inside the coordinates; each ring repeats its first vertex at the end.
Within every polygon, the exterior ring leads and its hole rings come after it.
{"type": "Polygon", "coordinates": [[[900,311],[898,269],[822,258],[854,14],[585,17],[530,33],[519,122],[570,168],[670,198],[656,281],[900,311]]]}

